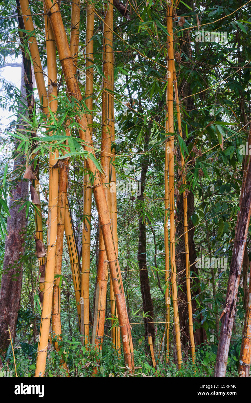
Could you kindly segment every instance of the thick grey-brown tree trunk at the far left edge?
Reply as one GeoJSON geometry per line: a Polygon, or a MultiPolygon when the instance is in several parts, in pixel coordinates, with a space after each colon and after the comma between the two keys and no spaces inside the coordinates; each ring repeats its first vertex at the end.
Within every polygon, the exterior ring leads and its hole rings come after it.
{"type": "MultiPolygon", "coordinates": [[[[24,81],[24,67],[22,65],[21,92],[25,102],[26,91],[24,81]]],[[[25,131],[19,125],[19,131],[25,131]]],[[[4,247],[3,274],[0,289],[0,352],[4,352],[10,344],[8,326],[10,326],[11,337],[15,341],[17,314],[20,307],[21,288],[23,279],[22,256],[25,251],[25,211],[20,208],[20,203],[27,200],[28,181],[21,179],[25,167],[25,156],[17,157],[13,165],[12,189],[10,191],[9,211],[7,218],[7,232],[4,247]]]]}

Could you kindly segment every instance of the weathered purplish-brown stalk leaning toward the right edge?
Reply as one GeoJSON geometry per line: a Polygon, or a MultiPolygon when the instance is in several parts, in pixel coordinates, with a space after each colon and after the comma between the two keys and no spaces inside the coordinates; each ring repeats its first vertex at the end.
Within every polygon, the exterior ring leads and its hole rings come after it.
{"type": "MultiPolygon", "coordinates": [[[[244,180],[244,178],[243,178],[244,180]]],[[[226,291],[225,307],[222,312],[222,326],[220,330],[220,339],[216,355],[215,377],[224,377],[226,375],[226,366],[228,361],[228,350],[234,323],[234,313],[236,309],[236,300],[238,295],[241,268],[245,245],[247,242],[247,233],[251,214],[251,158],[247,165],[245,175],[245,184],[241,191],[240,210],[237,217],[234,245],[230,263],[228,287],[226,291]]]]}

